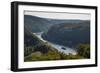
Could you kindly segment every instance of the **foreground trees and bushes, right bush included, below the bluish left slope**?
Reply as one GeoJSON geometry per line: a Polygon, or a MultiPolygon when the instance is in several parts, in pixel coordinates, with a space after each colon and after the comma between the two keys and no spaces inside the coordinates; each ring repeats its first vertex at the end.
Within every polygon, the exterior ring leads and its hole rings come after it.
{"type": "Polygon", "coordinates": [[[88,44],[79,44],[77,46],[77,54],[68,55],[57,51],[48,43],[42,43],[36,46],[25,47],[24,61],[44,61],[44,60],[73,60],[90,58],[90,46],[88,44]]]}

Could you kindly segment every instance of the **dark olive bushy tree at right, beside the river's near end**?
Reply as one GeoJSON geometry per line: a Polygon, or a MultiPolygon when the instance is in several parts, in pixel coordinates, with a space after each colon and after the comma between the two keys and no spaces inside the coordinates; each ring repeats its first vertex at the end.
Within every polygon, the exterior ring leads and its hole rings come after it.
{"type": "Polygon", "coordinates": [[[85,58],[90,58],[90,45],[89,44],[79,44],[77,46],[78,55],[85,58]]]}

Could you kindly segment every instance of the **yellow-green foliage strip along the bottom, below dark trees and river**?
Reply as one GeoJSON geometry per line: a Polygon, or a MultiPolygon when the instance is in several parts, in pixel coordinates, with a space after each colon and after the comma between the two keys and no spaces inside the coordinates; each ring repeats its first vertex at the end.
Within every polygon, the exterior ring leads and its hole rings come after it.
{"type": "MultiPolygon", "coordinates": [[[[48,48],[47,53],[41,52],[40,49],[34,47],[34,50],[30,55],[25,56],[24,61],[25,62],[30,62],[30,61],[44,61],[44,60],[74,60],[74,59],[84,59],[83,56],[80,56],[79,54],[77,55],[72,55],[72,54],[64,54],[61,52],[58,52],[55,48],[52,46],[46,44],[46,48],[48,48]]],[[[45,48],[42,48],[45,49],[45,48]]]]}

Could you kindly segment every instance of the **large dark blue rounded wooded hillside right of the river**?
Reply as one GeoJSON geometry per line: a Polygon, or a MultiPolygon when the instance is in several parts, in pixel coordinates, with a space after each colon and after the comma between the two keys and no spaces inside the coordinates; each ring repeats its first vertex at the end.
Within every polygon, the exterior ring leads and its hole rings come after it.
{"type": "Polygon", "coordinates": [[[90,43],[90,22],[62,23],[53,25],[42,37],[50,42],[69,47],[75,47],[79,43],[90,43]]]}

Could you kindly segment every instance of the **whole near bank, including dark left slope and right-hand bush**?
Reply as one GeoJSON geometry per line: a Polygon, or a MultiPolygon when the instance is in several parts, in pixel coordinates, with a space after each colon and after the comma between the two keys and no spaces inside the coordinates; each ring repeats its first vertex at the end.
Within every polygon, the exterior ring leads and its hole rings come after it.
{"type": "Polygon", "coordinates": [[[73,60],[73,59],[89,59],[90,45],[78,44],[76,46],[77,54],[65,54],[59,52],[48,42],[41,41],[34,34],[25,30],[24,34],[24,61],[44,61],[44,60],[73,60]]]}

